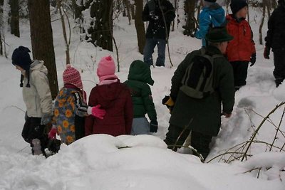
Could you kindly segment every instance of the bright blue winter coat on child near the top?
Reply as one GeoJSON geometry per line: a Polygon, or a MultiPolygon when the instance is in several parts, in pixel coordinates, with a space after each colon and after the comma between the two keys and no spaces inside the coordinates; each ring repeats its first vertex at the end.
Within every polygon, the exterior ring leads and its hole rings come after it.
{"type": "Polygon", "coordinates": [[[219,4],[212,4],[204,7],[199,14],[199,31],[195,33],[195,37],[202,39],[202,46],[206,46],[204,37],[209,31],[209,27],[222,26],[225,23],[224,9],[219,4]]]}

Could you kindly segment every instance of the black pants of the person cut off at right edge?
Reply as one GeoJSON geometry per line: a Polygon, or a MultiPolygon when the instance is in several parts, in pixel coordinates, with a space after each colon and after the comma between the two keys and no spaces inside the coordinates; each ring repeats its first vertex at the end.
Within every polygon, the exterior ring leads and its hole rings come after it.
{"type": "Polygon", "coordinates": [[[278,87],[285,78],[285,50],[274,50],[274,71],[276,87],[278,87]]]}

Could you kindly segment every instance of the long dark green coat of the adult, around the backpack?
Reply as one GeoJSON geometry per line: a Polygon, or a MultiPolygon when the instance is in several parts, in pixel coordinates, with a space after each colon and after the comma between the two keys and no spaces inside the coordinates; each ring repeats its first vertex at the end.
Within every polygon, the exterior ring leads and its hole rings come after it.
{"type": "MultiPolygon", "coordinates": [[[[221,126],[221,113],[231,113],[234,106],[234,77],[232,66],[226,58],[214,59],[213,83],[215,92],[203,99],[195,99],[180,91],[181,80],[192,58],[200,51],[192,51],[178,65],[172,77],[170,96],[175,106],[170,117],[170,124],[190,130],[217,136],[221,126]],[[223,107],[223,108],[222,108],[223,107]],[[190,123],[190,120],[192,122],[190,123]]],[[[206,54],[222,54],[218,48],[209,46],[206,54]]]]}

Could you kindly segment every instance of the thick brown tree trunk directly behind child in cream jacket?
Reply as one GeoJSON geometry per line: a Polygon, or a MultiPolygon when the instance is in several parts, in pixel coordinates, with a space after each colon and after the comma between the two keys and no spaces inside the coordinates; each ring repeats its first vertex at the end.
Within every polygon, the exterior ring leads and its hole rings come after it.
{"type": "Polygon", "coordinates": [[[48,80],[53,99],[58,94],[56,58],[48,0],[28,0],[33,59],[43,60],[48,68],[48,80]]]}

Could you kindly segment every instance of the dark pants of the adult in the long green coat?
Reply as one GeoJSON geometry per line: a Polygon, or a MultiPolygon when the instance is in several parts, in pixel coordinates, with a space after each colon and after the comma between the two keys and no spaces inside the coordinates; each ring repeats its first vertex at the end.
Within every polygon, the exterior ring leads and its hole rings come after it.
{"type": "MultiPolygon", "coordinates": [[[[183,130],[184,129],[182,127],[177,127],[175,125],[170,124],[165,138],[165,143],[167,144],[169,149],[173,149],[174,151],[176,151],[177,148],[181,147],[184,144],[185,140],[190,134],[190,130],[186,129],[182,133],[183,130]],[[179,136],[180,138],[178,139],[179,136]],[[174,145],[176,145],[176,147],[174,147],[174,145]]],[[[199,154],[202,154],[204,159],[206,159],[209,154],[209,144],[211,141],[212,136],[210,135],[202,134],[200,132],[195,131],[191,132],[191,146],[197,149],[197,152],[199,152],[199,154]]]]}

